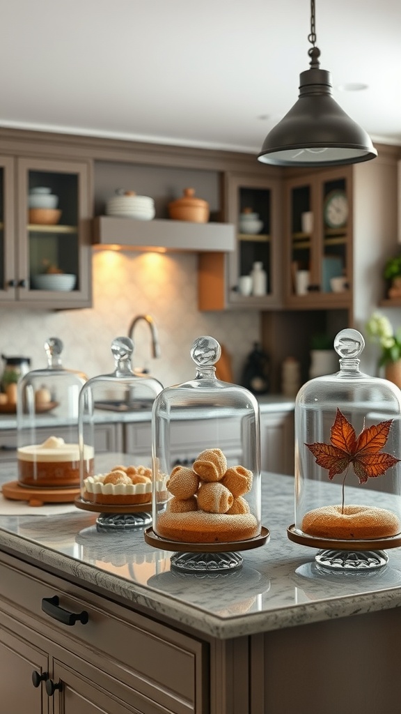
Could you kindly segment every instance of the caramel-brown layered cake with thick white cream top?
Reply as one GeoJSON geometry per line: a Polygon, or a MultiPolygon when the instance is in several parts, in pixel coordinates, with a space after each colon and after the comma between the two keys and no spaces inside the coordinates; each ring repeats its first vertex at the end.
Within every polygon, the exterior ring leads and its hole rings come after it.
{"type": "MultiPolygon", "coordinates": [[[[93,471],[93,448],[85,446],[86,473],[93,471]]],[[[50,436],[44,443],[21,446],[17,450],[20,486],[73,488],[79,486],[79,448],[77,443],[50,436]]]]}

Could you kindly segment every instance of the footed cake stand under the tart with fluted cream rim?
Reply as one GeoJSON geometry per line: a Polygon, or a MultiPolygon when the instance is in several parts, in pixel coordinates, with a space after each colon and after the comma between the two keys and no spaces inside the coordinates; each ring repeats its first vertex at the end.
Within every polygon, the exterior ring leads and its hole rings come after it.
{"type": "Polygon", "coordinates": [[[106,506],[101,503],[84,501],[81,495],[76,496],[74,503],[83,511],[100,513],[96,519],[96,530],[101,532],[131,531],[133,528],[144,528],[152,522],[152,503],[138,503],[138,506],[106,506]]]}

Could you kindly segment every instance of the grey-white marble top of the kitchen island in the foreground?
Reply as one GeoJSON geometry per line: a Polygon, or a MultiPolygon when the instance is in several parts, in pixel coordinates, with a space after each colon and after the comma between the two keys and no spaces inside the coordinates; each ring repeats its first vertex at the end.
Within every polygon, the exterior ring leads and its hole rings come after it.
{"type": "MultiPolygon", "coordinates": [[[[389,563],[381,570],[321,573],[314,562],[317,551],[288,540],[293,484],[290,476],[263,476],[262,523],[270,541],[242,551],[238,573],[176,574],[170,569],[171,552],[147,545],[141,529],[98,533],[97,514],[78,509],[63,516],[41,516],[38,509],[34,516],[0,516],[0,548],[216,638],[400,607],[401,548],[388,550],[389,563]]],[[[328,483],[328,488],[340,486],[328,483]]],[[[370,497],[382,506],[389,498],[377,491],[370,497]]]]}

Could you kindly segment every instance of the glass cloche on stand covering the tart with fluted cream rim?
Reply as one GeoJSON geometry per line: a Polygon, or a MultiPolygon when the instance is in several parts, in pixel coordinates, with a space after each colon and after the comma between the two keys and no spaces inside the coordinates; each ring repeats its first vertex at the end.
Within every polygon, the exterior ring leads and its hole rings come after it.
{"type": "Polygon", "coordinates": [[[113,421],[119,425],[124,421],[135,422],[136,415],[146,410],[150,413],[153,401],[163,389],[155,378],[133,373],[130,338],[116,338],[111,352],[114,371],[89,379],[79,396],[81,493],[76,506],[102,514],[97,521],[98,530],[151,522],[151,516],[147,515],[151,513],[151,444],[143,444],[138,438],[130,452],[123,453],[121,437],[121,443],[106,449],[102,426],[113,421]],[[132,517],[126,518],[124,514],[132,517]]]}

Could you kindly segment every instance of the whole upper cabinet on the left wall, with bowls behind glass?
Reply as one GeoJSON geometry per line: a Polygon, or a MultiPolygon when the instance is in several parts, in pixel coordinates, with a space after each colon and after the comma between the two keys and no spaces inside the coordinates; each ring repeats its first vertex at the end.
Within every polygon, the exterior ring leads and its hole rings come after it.
{"type": "Polygon", "coordinates": [[[86,161],[0,159],[0,305],[91,306],[89,169],[86,161]],[[57,197],[59,213],[30,212],[36,188],[57,197]]]}

